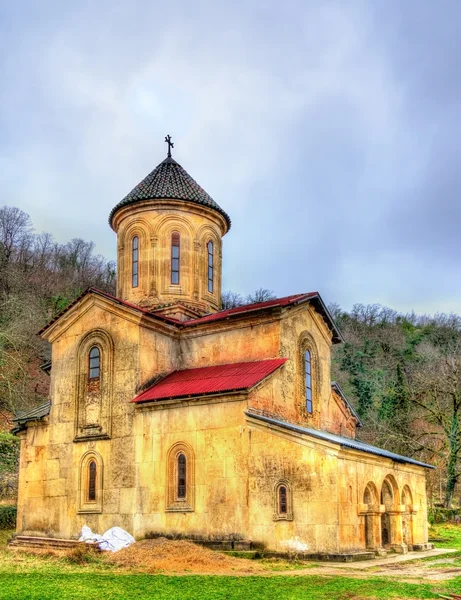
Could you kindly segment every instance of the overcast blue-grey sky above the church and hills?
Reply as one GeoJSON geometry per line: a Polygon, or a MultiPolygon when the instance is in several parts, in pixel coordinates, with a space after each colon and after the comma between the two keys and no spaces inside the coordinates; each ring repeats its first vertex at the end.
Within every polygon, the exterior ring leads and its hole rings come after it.
{"type": "Polygon", "coordinates": [[[461,313],[459,0],[0,3],[0,205],[115,258],[166,156],[232,218],[224,288],[461,313]]]}

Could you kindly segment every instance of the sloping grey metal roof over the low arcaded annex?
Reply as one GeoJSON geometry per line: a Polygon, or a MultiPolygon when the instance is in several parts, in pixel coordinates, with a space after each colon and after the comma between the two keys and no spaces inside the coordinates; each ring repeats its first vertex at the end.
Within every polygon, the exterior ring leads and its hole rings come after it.
{"type": "Polygon", "coordinates": [[[288,429],[289,431],[294,431],[295,433],[301,433],[318,438],[320,440],[339,444],[342,448],[352,448],[354,450],[360,450],[361,452],[367,452],[368,454],[375,454],[376,456],[390,458],[395,462],[408,463],[410,465],[417,465],[418,467],[425,467],[427,469],[435,469],[433,465],[428,465],[427,463],[420,462],[419,460],[414,460],[413,458],[408,458],[407,456],[401,456],[400,454],[389,452],[389,450],[377,448],[376,446],[370,446],[369,444],[365,444],[365,442],[359,442],[358,440],[346,438],[341,435],[335,435],[334,433],[328,433],[327,431],[319,431],[318,429],[311,429],[310,427],[301,427],[300,425],[294,425],[293,423],[288,423],[287,421],[280,421],[279,419],[273,419],[272,417],[266,417],[253,412],[245,412],[245,414],[252,419],[263,421],[264,423],[269,423],[271,425],[276,425],[277,427],[282,427],[283,429],[288,429]]]}

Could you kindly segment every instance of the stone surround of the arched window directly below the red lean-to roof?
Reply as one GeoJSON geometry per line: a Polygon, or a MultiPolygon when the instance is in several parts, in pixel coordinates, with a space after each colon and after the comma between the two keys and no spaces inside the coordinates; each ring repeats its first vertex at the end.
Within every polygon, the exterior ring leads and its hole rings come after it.
{"type": "Polygon", "coordinates": [[[195,506],[195,454],[192,446],[186,442],[176,442],[167,454],[167,497],[165,510],[167,512],[191,512],[195,506]],[[186,490],[181,497],[177,494],[178,458],[185,457],[186,490]]]}

